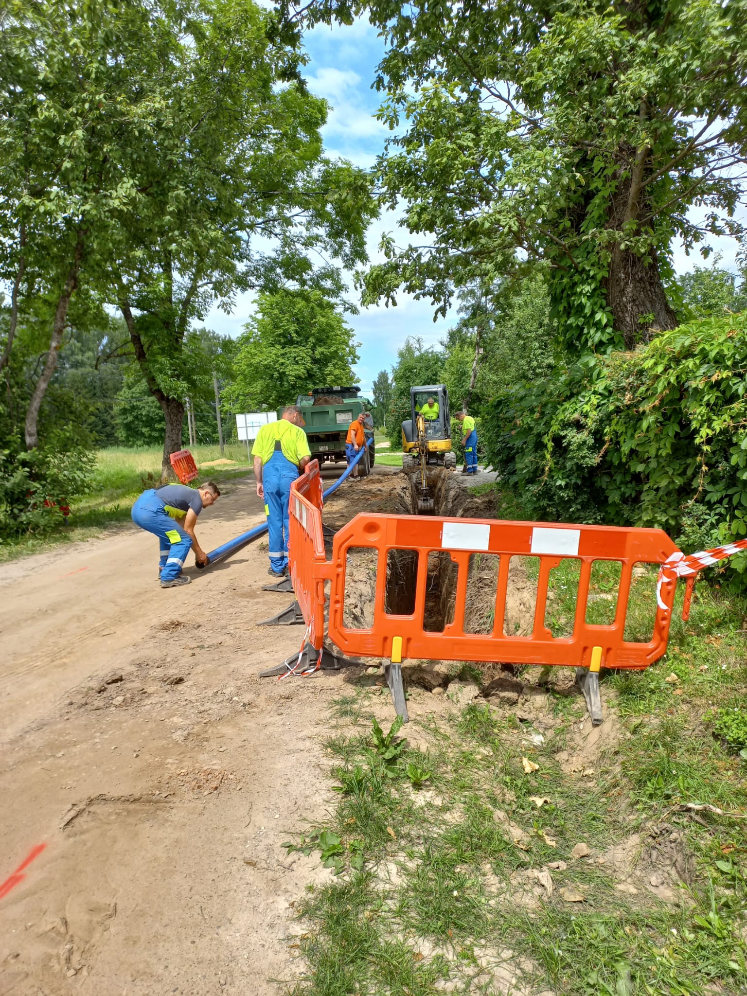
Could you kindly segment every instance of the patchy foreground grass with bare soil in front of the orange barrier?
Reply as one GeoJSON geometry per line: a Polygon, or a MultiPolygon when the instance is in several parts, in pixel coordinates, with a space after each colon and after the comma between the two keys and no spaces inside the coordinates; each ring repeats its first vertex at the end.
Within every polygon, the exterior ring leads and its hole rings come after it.
{"type": "MultiPolygon", "coordinates": [[[[553,612],[568,608],[558,581],[553,612]]],[[[594,583],[603,594],[612,584],[594,583]]],[[[636,619],[648,598],[646,584],[635,587],[636,619]]],[[[557,996],[747,992],[745,821],[680,808],[747,812],[737,749],[744,615],[743,601],[703,586],[690,622],[672,622],[662,661],[603,675],[623,735],[587,777],[564,773],[557,756],[588,722],[580,696],[556,695],[562,708],[540,744],[528,739],[531,724],[477,700],[413,720],[400,737],[414,728],[428,746],[405,744],[386,762],[372,714],[387,692],[365,680],[349,688],[332,704],[326,742],[337,787],[326,826],[341,841],[341,873],[310,886],[297,907],[293,946],[305,967],[287,991],[436,996],[447,983],[492,993],[506,991],[508,972],[516,988],[557,996]],[[677,680],[666,682],[670,674],[677,680]],[[527,773],[522,757],[538,769],[527,773]],[[413,766],[431,773],[419,789],[407,777],[413,766]],[[538,808],[533,797],[549,802],[538,808]],[[689,884],[678,896],[672,885],[673,902],[640,879],[637,894],[622,892],[614,868],[597,861],[632,834],[661,847],[679,839],[689,884]],[[573,859],[579,842],[591,859],[573,859]],[[553,862],[566,867],[551,871],[552,894],[537,886],[532,905],[523,904],[522,881],[553,862]],[[565,901],[564,887],[585,901],[565,901]]],[[[654,857],[645,873],[658,867],[654,857]]]]}

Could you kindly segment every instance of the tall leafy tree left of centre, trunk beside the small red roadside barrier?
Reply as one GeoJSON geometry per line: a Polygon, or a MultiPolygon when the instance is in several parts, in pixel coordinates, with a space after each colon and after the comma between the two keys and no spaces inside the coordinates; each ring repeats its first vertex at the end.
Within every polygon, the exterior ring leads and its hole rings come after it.
{"type": "Polygon", "coordinates": [[[322,154],[327,105],[299,76],[299,38],[253,0],[190,0],[130,67],[161,108],[131,150],[114,293],[165,417],[163,471],[195,387],[185,337],[237,291],[324,286],[366,259],[366,174],[322,154]],[[321,262],[321,266],[317,265],[321,262]]]}

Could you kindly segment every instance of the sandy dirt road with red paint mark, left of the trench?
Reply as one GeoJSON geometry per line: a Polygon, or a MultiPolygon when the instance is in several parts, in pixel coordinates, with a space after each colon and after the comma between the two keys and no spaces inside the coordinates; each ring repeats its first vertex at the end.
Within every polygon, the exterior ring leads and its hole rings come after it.
{"type": "MultiPolygon", "coordinates": [[[[385,504],[390,470],[331,514],[385,504]]],[[[230,484],[200,542],[262,520],[230,484]]],[[[266,540],[184,589],[156,548],[132,527],[0,567],[0,996],[277,993],[328,874],[281,845],[325,811],[326,703],[358,672],[257,677],[303,632],[256,624],[292,601],[261,590],[266,540]]]]}

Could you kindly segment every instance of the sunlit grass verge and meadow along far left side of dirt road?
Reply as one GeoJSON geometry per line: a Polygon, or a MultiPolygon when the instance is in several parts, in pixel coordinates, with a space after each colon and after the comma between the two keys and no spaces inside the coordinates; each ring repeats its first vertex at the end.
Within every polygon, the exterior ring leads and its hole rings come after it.
{"type": "MultiPolygon", "coordinates": [[[[243,443],[227,445],[223,455],[217,445],[193,446],[191,452],[197,466],[219,459],[235,461],[233,464],[205,467],[198,481],[212,479],[220,484],[249,472],[246,445],[243,443]]],[[[160,449],[118,447],[99,450],[91,491],[73,502],[68,521],[49,536],[4,541],[0,545],[0,562],[40,553],[61,543],[93,539],[105,530],[129,521],[135,498],[145,488],[158,483],[160,466],[160,449]]]]}

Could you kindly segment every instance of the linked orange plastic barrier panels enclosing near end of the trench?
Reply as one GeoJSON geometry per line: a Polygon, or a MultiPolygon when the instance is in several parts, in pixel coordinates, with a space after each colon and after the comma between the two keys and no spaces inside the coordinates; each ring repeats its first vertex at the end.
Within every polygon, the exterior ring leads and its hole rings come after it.
{"type": "MultiPolygon", "coordinates": [[[[675,578],[661,584],[663,608],[655,606],[651,639],[641,643],[624,638],[633,567],[663,564],[677,552],[674,543],[658,529],[361,514],[335,535],[332,560],[327,561],[322,485],[319,464],[313,461],[291,489],[289,547],[294,592],[309,626],[309,641],[317,649],[322,647],[325,635],[325,582],[329,582],[328,633],[344,653],[352,656],[394,661],[423,658],[557,664],[597,671],[600,666],[644,668],[666,650],[675,578]],[[344,622],[348,552],[353,548],[376,552],[373,623],[367,629],[351,628],[344,622]],[[391,551],[409,551],[417,559],[413,611],[408,615],[386,611],[387,563],[391,551]],[[428,557],[434,553],[446,553],[457,570],[453,620],[441,631],[424,627],[428,557]],[[464,629],[470,558],[474,554],[499,558],[494,626],[492,632],[485,634],[464,629]],[[531,632],[526,636],[504,631],[512,557],[539,559],[534,618],[531,632]],[[550,572],[564,560],[580,563],[576,612],[572,635],[554,636],[545,624],[548,586],[550,572]],[[595,561],[621,564],[615,621],[607,625],[587,622],[595,561]]],[[[688,582],[687,596],[691,593],[692,580],[688,582]]],[[[685,605],[689,605],[689,598],[685,605]]]]}

